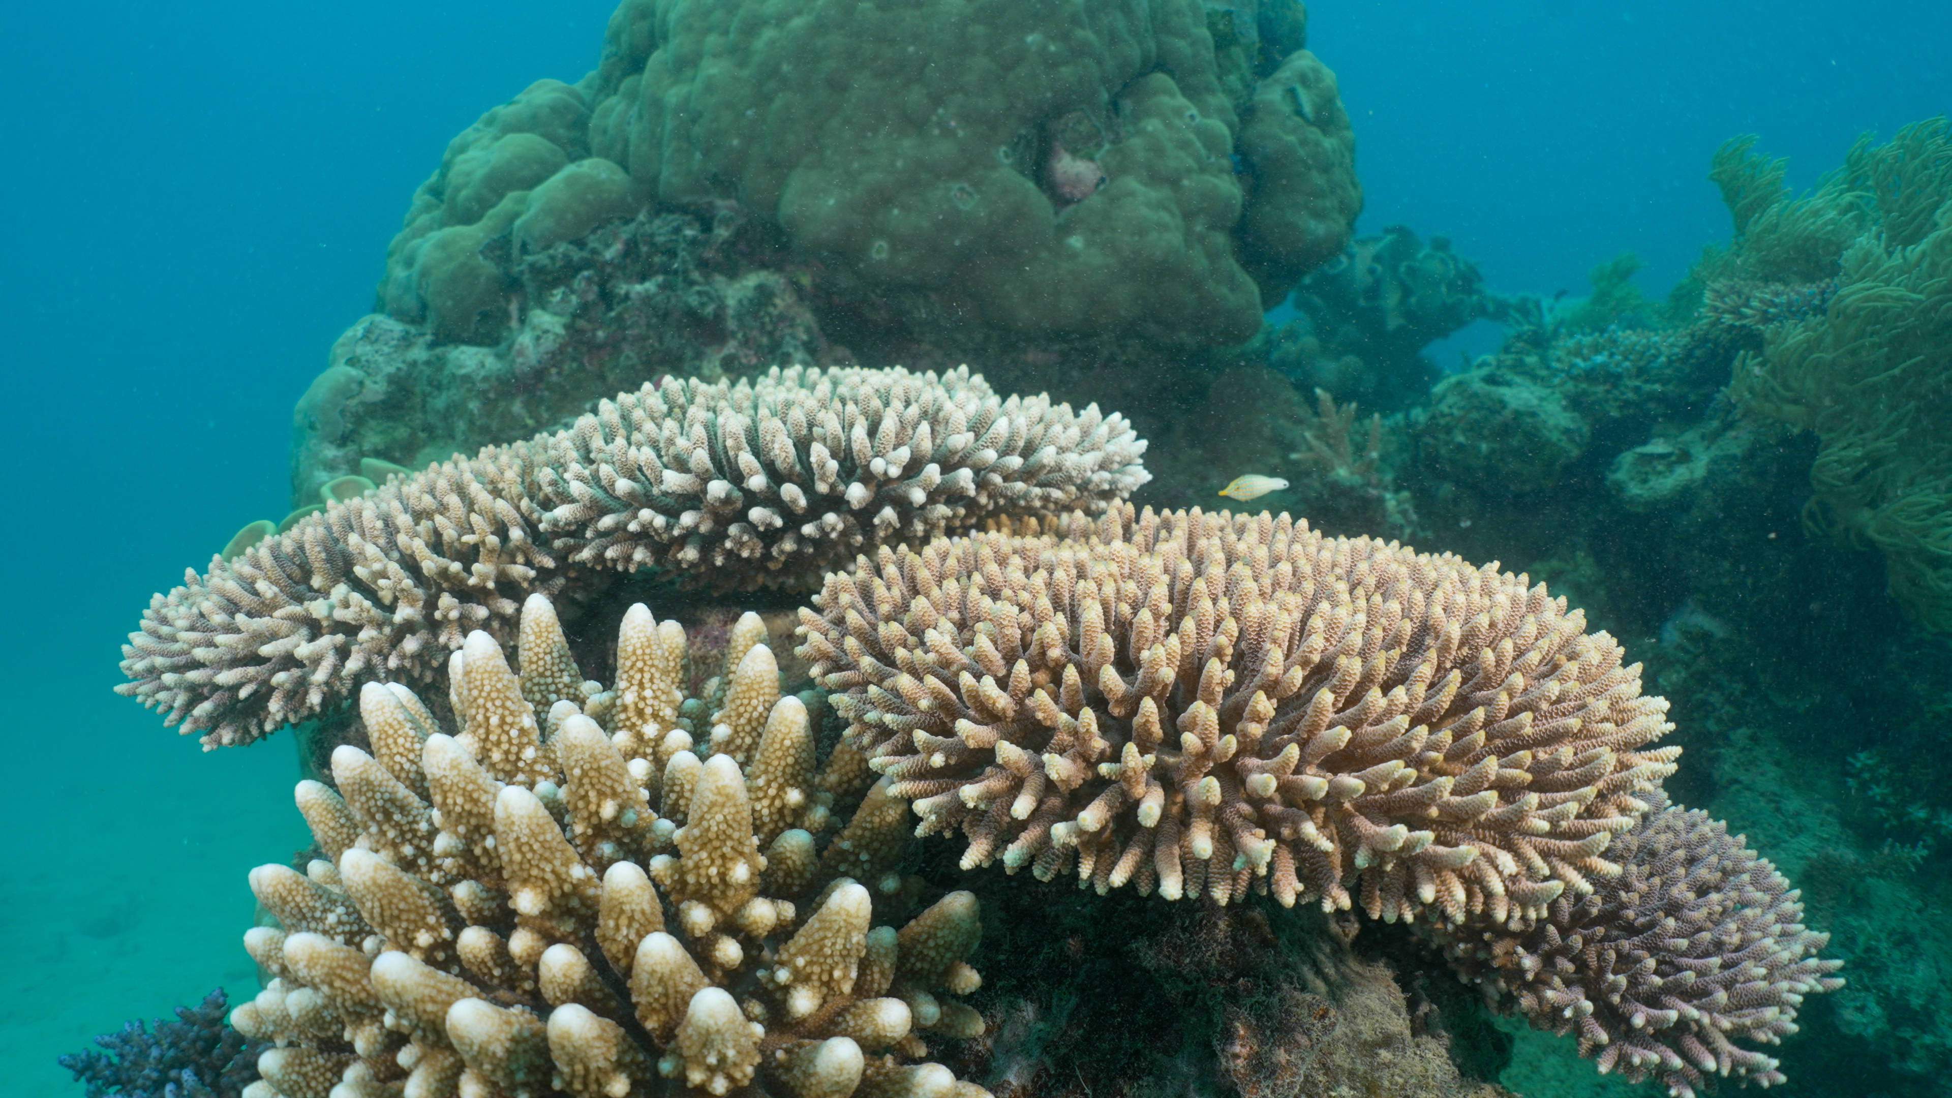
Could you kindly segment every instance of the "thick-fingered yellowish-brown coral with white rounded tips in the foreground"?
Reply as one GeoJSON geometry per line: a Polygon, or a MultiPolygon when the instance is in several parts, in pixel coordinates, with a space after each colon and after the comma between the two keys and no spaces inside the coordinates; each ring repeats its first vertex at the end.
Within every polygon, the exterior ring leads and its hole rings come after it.
{"type": "Polygon", "coordinates": [[[980,983],[976,901],[874,926],[900,830],[882,789],[839,821],[865,772],[847,746],[816,766],[771,651],[728,651],[712,711],[677,686],[683,629],[642,606],[609,690],[560,641],[539,596],[519,674],[468,635],[455,735],[398,684],[361,692],[373,754],[297,789],[326,858],[250,875],[279,920],[246,934],[275,979],[232,1014],[277,1041],[254,1098],[984,1096],[923,1039],[984,1030],[955,998],[980,983]]]}

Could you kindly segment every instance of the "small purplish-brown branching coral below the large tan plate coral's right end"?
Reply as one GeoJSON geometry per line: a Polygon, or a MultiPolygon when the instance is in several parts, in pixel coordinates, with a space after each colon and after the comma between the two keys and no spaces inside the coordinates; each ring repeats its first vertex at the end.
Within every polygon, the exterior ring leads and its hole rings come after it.
{"type": "Polygon", "coordinates": [[[1622,871],[1571,893],[1523,934],[1450,934],[1472,979],[1517,996],[1542,1030],[1577,1034],[1579,1053],[1630,1080],[1692,1098],[1706,1073],[1784,1082],[1776,1061],[1737,1039],[1778,1043],[1806,994],[1835,991],[1829,934],[1804,928],[1790,883],[1706,813],[1667,807],[1614,840],[1622,871]]]}

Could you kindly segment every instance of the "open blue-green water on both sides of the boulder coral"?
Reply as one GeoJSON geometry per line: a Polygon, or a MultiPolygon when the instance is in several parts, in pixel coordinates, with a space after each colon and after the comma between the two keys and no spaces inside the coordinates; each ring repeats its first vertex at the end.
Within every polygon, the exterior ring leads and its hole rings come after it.
{"type": "MultiPolygon", "coordinates": [[[[611,4],[12,4],[0,14],[0,1090],[215,983],[252,987],[244,871],[303,844],[291,748],[199,754],[109,694],[123,633],[287,506],[291,404],[371,303],[445,143],[578,78],[611,4]]],[[[1616,252],[1659,295],[1728,236],[1737,133],[1804,188],[1952,109],[1952,4],[1310,6],[1361,231],[1448,234],[1499,291],[1616,252]]],[[[1495,334],[1491,336],[1495,340],[1495,334]]]]}

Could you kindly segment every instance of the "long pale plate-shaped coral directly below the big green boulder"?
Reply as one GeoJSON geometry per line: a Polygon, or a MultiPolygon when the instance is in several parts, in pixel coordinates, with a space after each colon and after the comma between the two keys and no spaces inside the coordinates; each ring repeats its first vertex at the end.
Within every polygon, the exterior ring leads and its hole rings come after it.
{"type": "Polygon", "coordinates": [[[1117,412],[1001,399],[966,367],[666,379],[187,572],[129,635],[117,690],[207,748],[250,742],[361,680],[431,682],[468,631],[509,639],[521,600],[578,570],[810,588],[884,541],[1101,508],[1146,483],[1144,449],[1117,412]]]}

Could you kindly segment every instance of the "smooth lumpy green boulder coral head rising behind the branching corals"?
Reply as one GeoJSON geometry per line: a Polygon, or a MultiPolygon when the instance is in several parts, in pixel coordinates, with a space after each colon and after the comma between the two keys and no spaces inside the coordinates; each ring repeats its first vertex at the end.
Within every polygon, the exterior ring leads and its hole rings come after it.
{"type": "Polygon", "coordinates": [[[1335,76],[1294,49],[1240,86],[1230,25],[1216,43],[1199,0],[627,0],[595,72],[455,139],[381,297],[492,344],[523,254],[738,201],[947,322],[1240,342],[1341,250],[1361,190],[1335,76]]]}

